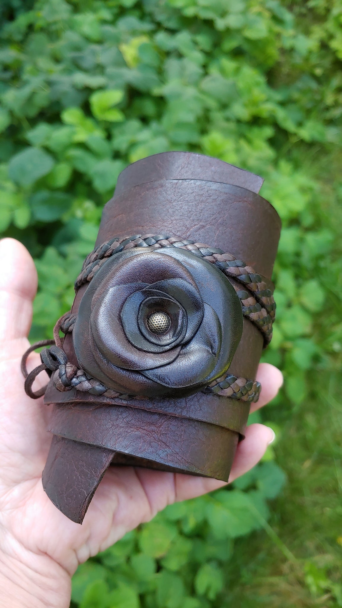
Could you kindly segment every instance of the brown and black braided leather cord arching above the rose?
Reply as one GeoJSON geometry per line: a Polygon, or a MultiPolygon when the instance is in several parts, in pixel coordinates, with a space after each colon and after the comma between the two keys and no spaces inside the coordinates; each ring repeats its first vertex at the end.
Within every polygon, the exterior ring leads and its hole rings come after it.
{"type": "Polygon", "coordinates": [[[233,255],[203,243],[195,243],[193,240],[182,240],[180,237],[168,237],[167,235],[114,237],[87,255],[75,282],[75,290],[77,291],[84,283],[90,282],[109,257],[132,249],[132,247],[149,247],[152,250],[162,247],[186,249],[191,254],[215,264],[227,277],[242,283],[244,289],[233,286],[241,300],[242,313],[262,332],[265,345],[269,344],[272,339],[272,323],[275,319],[276,304],[272,291],[267,288],[264,278],[251,266],[242,260],[237,260],[233,255]]]}

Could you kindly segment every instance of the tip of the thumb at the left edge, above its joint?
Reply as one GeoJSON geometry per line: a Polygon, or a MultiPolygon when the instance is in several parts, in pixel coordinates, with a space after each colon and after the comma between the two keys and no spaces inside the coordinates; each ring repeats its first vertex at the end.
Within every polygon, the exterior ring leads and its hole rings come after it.
{"type": "Polygon", "coordinates": [[[13,238],[0,241],[0,260],[0,340],[15,340],[30,331],[37,273],[26,247],[13,238]]]}

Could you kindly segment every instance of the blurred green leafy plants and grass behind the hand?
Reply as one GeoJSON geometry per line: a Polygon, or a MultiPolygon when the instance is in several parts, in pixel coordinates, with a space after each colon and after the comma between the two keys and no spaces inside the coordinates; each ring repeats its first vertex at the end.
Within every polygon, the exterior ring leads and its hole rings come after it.
{"type": "Polygon", "coordinates": [[[0,24],[0,229],[36,260],[32,340],[130,162],[219,157],[283,223],[264,360],[285,385],[251,416],[274,447],[82,565],[72,606],[342,606],[341,0],[2,0],[0,24]]]}

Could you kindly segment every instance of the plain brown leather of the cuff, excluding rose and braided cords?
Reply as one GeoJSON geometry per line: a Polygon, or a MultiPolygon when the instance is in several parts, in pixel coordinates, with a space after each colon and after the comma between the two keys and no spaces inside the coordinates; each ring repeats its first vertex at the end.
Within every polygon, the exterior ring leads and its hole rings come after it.
{"type": "MultiPolygon", "coordinates": [[[[137,233],[194,238],[230,252],[271,280],[281,224],[275,209],[258,196],[261,184],[258,176],[199,154],[163,153],[143,159],[121,173],[115,195],[104,207],[97,244],[137,233]]],[[[89,285],[83,285],[77,292],[72,313],[77,313],[87,289],[89,285]]],[[[255,378],[262,341],[259,330],[244,318],[231,373],[255,378]]],[[[77,365],[70,334],[63,348],[69,361],[77,365]]],[[[46,402],[57,403],[50,428],[64,437],[63,454],[71,442],[69,456],[74,464],[66,474],[60,465],[60,452],[53,447],[44,471],[44,487],[70,519],[81,520],[80,513],[85,512],[84,505],[89,504],[93,491],[82,503],[80,486],[95,487],[93,472],[87,472],[89,467],[82,464],[88,458],[89,446],[103,451],[103,466],[109,464],[109,452],[115,452],[113,463],[120,465],[228,480],[248,404],[204,393],[176,400],[133,399],[126,404],[114,399],[112,405],[106,401],[104,406],[105,400],[94,397],[88,402],[81,396],[79,403],[75,391],[59,393],[57,398],[51,381],[46,393],[46,402]],[[79,466],[83,466],[81,480],[79,466]]]]}

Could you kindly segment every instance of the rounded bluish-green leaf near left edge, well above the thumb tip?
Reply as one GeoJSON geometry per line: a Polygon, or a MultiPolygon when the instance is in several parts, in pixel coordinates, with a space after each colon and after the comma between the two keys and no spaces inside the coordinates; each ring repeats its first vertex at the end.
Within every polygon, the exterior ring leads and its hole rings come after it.
{"type": "Polygon", "coordinates": [[[26,148],[9,162],[9,176],[16,184],[27,187],[49,173],[55,164],[52,156],[40,148],[26,148]]]}

